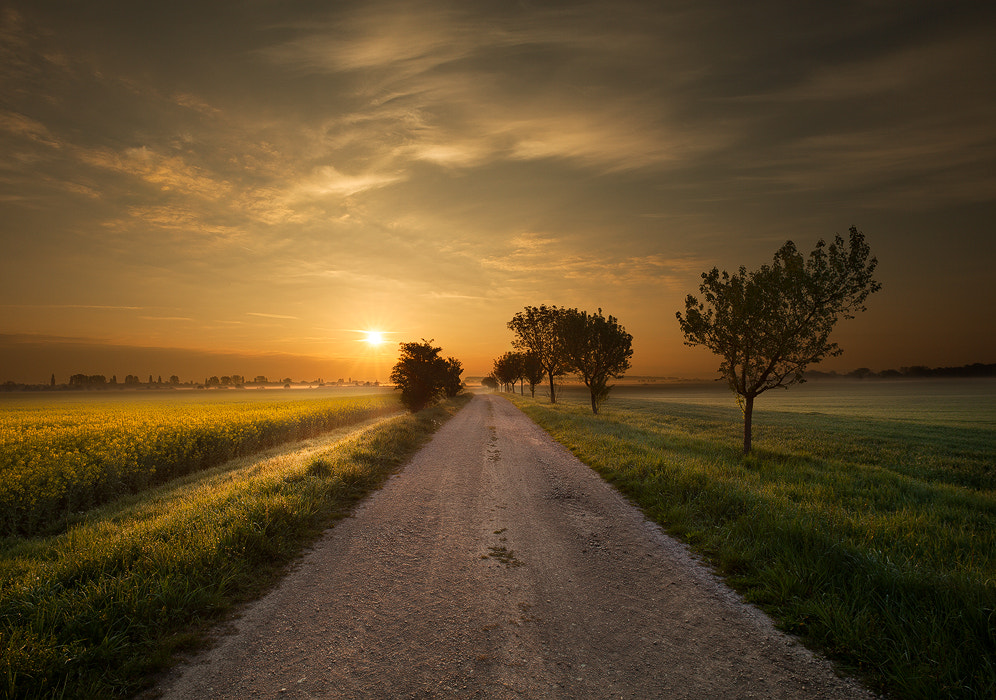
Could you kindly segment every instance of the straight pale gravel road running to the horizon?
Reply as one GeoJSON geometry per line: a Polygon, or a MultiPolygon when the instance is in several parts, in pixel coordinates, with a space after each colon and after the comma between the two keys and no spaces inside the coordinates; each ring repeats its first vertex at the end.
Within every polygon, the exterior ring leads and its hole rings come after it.
{"type": "Polygon", "coordinates": [[[167,698],[870,698],[477,396],[167,698]]]}

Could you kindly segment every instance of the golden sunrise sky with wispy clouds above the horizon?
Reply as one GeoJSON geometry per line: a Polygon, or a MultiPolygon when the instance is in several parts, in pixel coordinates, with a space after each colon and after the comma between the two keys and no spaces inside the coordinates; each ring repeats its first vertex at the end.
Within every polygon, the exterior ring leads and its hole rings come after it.
{"type": "Polygon", "coordinates": [[[818,369],[996,362],[991,0],[31,0],[0,64],[0,381],[481,375],[539,304],[713,377],[701,273],[852,225],[818,369]]]}

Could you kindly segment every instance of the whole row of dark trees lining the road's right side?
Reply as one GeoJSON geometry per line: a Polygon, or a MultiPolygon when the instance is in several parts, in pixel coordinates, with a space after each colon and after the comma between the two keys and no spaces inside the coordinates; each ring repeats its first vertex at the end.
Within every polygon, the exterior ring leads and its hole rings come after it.
{"type": "MultiPolygon", "coordinates": [[[[873,274],[864,234],[852,226],[849,241],[820,239],[806,257],[792,241],[770,265],[735,274],[713,268],[702,273],[701,297],[689,294],[685,312],[675,316],[685,344],[719,356],[719,372],[737,397],[744,415],[744,454],[751,449],[754,400],[766,391],[805,381],[810,364],[841,354],[830,333],[841,318],[865,310],[865,300],[881,288],[873,274]]],[[[591,393],[591,410],[608,396],[612,378],[629,369],[632,336],[602,310],[589,314],[557,306],[527,306],[508,327],[518,352],[494,362],[495,386],[526,380],[531,391],[544,374],[550,401],[556,403],[554,378],[575,373],[591,393]],[[540,371],[542,369],[542,372],[540,371]]]]}

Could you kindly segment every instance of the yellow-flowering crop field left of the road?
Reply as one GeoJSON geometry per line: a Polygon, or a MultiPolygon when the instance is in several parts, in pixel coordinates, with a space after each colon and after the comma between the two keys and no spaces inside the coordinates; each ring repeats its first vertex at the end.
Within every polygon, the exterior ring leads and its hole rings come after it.
{"type": "Polygon", "coordinates": [[[7,395],[0,408],[4,536],[51,534],[124,494],[400,404],[368,389],[7,395]]]}

